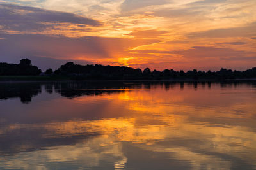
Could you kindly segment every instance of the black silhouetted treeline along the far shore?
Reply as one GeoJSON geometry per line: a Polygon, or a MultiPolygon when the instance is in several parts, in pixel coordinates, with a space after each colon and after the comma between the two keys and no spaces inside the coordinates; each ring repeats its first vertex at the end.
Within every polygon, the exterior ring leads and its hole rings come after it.
{"type": "MultiPolygon", "coordinates": [[[[39,77],[51,77],[54,79],[67,80],[228,80],[228,79],[252,79],[256,78],[256,67],[246,71],[233,71],[221,68],[220,71],[153,71],[149,68],[144,70],[133,69],[125,66],[102,66],[100,64],[79,65],[67,62],[53,71],[51,68],[44,73],[38,67],[31,64],[31,60],[22,59],[19,64],[0,63],[0,76],[33,76],[31,80],[44,80],[39,77]]],[[[3,80],[3,79],[0,79],[3,80]]]]}

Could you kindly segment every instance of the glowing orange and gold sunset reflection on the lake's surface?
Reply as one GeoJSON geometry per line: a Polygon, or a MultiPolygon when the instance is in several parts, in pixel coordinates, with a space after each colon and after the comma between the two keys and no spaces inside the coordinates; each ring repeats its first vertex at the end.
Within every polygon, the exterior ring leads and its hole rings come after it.
{"type": "MultiPolygon", "coordinates": [[[[157,154],[156,157],[167,154],[170,159],[190,162],[191,169],[203,165],[230,169],[234,160],[256,166],[255,97],[255,89],[243,85],[236,88],[213,85],[211,89],[157,85],[73,100],[60,97],[52,102],[51,110],[68,110],[71,104],[74,107],[69,114],[82,111],[80,115],[92,115],[92,120],[77,116],[63,122],[12,124],[2,128],[1,134],[44,129],[42,139],[79,137],[72,145],[49,146],[40,152],[46,162],[76,162],[83,158],[90,160],[93,167],[100,164],[99,160],[105,160],[106,155],[112,155],[116,169],[124,168],[131,159],[123,149],[129,143],[143,152],[157,154]],[[61,110],[56,103],[62,103],[61,110]],[[91,112],[93,108],[100,108],[99,118],[93,119],[96,114],[91,112]]],[[[33,146],[29,143],[16,150],[29,150],[33,146]]]]}

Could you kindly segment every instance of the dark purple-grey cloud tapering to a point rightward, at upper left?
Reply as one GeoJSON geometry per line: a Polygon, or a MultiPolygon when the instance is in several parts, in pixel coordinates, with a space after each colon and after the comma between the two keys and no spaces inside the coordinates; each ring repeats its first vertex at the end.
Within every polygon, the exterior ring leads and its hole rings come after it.
{"type": "Polygon", "coordinates": [[[44,10],[28,6],[0,4],[0,28],[2,31],[43,31],[58,24],[99,26],[96,20],[73,13],[44,10]]]}

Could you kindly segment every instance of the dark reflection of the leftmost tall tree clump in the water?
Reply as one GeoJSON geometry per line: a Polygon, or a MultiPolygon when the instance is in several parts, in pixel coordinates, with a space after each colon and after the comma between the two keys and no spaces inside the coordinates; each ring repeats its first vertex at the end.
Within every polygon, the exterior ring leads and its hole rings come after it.
{"type": "Polygon", "coordinates": [[[0,99],[19,97],[22,103],[31,102],[33,96],[41,92],[38,83],[2,83],[0,84],[0,99]]]}

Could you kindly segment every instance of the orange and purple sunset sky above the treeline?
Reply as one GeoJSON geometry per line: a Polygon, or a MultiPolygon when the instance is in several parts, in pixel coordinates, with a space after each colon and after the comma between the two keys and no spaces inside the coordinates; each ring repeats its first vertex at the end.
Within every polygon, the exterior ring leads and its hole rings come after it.
{"type": "Polygon", "coordinates": [[[0,62],[256,66],[255,0],[0,0],[0,62]]]}

